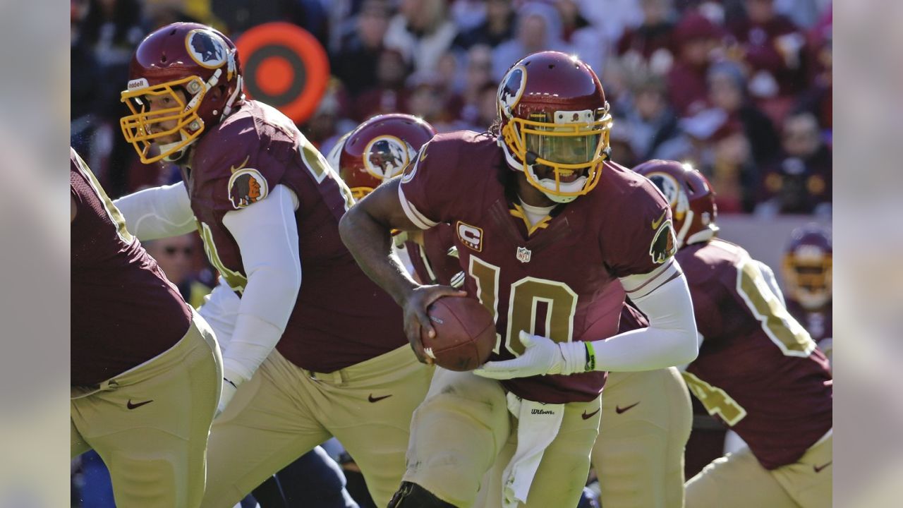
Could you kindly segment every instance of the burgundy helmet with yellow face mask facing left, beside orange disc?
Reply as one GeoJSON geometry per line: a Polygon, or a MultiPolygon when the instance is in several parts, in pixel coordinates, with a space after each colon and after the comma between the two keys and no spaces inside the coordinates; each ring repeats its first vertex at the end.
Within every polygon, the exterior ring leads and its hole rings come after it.
{"type": "Polygon", "coordinates": [[[145,37],[135,50],[122,92],[132,114],[121,118],[119,125],[144,164],[178,160],[205,128],[229,114],[240,97],[235,44],[204,24],[168,24],[145,37]],[[182,90],[185,99],[176,90],[182,90]],[[150,97],[167,107],[150,111],[150,97]],[[160,154],[151,155],[154,139],[174,134],[178,141],[158,143],[160,154]]]}

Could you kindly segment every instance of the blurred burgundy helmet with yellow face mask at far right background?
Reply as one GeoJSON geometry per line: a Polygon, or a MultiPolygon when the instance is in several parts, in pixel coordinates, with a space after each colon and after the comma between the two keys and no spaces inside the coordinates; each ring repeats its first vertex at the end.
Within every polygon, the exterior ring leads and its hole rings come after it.
{"type": "Polygon", "coordinates": [[[833,264],[831,231],[817,224],[796,228],[784,254],[787,296],[809,310],[831,301],[833,264]]]}

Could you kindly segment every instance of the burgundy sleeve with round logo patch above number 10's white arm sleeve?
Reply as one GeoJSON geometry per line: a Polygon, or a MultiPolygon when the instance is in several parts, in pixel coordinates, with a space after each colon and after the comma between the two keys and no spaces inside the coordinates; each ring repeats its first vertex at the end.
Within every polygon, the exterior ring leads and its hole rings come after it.
{"type": "Polygon", "coordinates": [[[644,181],[635,187],[609,221],[610,239],[602,249],[615,277],[645,274],[674,256],[677,241],[671,207],[655,185],[644,181]]]}

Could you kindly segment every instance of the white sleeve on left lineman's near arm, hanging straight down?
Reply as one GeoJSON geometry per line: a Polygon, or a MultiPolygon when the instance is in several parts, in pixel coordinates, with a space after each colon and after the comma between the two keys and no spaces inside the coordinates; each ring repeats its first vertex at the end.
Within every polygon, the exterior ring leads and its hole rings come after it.
{"type": "Polygon", "coordinates": [[[247,381],[273,351],[298,298],[297,200],[287,187],[276,185],[265,200],[223,217],[247,274],[232,340],[223,353],[223,372],[236,384],[247,381]]]}

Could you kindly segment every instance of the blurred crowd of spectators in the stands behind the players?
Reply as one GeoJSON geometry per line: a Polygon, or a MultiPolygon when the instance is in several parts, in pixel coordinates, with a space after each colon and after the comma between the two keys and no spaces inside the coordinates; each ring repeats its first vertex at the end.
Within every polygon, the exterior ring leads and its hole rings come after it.
{"type": "Polygon", "coordinates": [[[72,145],[113,195],[178,179],[138,162],[119,91],[146,33],[175,21],[233,40],[302,26],[332,78],[303,133],[325,153],[378,113],[485,130],[498,80],[531,52],[576,54],[612,108],[613,160],[694,164],[722,213],[815,214],[832,196],[830,0],[70,0],[72,145]]]}

